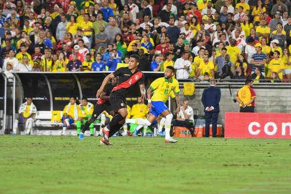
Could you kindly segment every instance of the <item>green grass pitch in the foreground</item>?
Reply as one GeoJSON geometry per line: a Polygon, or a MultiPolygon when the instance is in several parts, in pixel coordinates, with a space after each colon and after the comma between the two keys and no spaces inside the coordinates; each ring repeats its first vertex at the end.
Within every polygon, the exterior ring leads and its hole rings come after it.
{"type": "Polygon", "coordinates": [[[291,141],[0,136],[0,194],[290,194],[291,141]]]}

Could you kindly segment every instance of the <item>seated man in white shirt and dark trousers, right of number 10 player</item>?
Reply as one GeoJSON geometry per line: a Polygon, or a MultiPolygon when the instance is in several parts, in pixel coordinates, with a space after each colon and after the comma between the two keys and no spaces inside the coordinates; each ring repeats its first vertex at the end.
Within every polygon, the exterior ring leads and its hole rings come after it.
{"type": "Polygon", "coordinates": [[[183,101],[183,106],[180,112],[177,114],[177,119],[172,121],[173,126],[185,125],[190,130],[191,135],[194,135],[194,130],[191,129],[194,123],[193,109],[188,106],[188,101],[183,101]]]}

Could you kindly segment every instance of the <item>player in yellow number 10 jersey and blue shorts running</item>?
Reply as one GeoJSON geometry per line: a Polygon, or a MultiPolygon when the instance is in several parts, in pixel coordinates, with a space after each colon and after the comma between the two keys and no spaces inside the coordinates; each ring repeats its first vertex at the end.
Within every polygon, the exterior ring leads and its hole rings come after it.
{"type": "Polygon", "coordinates": [[[176,101],[178,108],[176,113],[180,112],[180,96],[179,96],[179,83],[173,78],[175,69],[172,66],[167,66],[164,72],[163,78],[158,78],[150,84],[150,87],[147,90],[147,108],[149,114],[146,119],[126,119],[126,123],[133,123],[137,125],[146,125],[150,126],[159,115],[162,115],[166,118],[165,120],[165,143],[176,143],[177,140],[174,140],[170,136],[171,122],[173,119],[173,114],[170,112],[168,107],[165,105],[170,93],[175,92],[176,101]],[[151,97],[152,92],[154,92],[153,97],[151,97]]]}

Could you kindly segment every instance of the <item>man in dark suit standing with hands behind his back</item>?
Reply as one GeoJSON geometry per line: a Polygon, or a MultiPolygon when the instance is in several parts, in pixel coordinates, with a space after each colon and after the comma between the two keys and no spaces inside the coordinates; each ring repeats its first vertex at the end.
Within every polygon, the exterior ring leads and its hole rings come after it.
{"type": "Polygon", "coordinates": [[[210,81],[210,87],[204,89],[202,103],[205,108],[205,136],[209,137],[210,122],[212,120],[212,137],[216,136],[217,119],[219,114],[219,101],[221,91],[215,87],[215,80],[210,81]]]}

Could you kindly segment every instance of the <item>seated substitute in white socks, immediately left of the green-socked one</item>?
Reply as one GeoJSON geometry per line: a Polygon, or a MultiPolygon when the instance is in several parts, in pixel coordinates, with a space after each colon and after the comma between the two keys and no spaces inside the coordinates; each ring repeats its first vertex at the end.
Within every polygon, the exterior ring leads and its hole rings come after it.
{"type": "Polygon", "coordinates": [[[70,129],[71,124],[73,124],[75,121],[78,120],[78,116],[81,114],[79,105],[76,104],[76,98],[70,97],[70,103],[68,105],[65,105],[64,111],[63,111],[63,131],[61,135],[65,135],[66,129],[70,129]]]}

